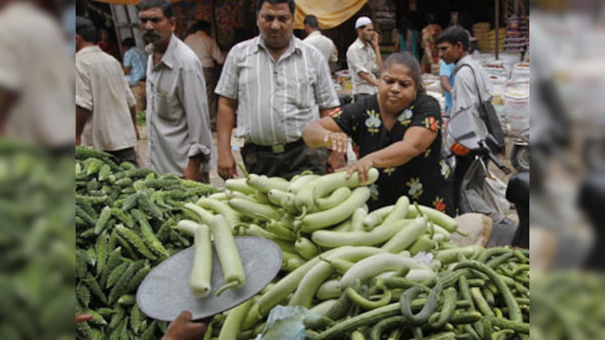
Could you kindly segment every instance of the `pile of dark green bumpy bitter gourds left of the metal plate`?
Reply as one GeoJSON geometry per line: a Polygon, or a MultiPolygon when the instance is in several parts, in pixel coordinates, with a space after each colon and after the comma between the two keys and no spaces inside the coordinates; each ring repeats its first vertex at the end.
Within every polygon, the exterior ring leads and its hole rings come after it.
{"type": "Polygon", "coordinates": [[[174,229],[184,217],[181,206],[217,190],[118,165],[110,154],[86,146],[76,148],[75,183],[76,312],[93,315],[77,324],[76,336],[161,338],[166,322],[146,318],[134,294],[151,269],[190,246],[174,229]]]}

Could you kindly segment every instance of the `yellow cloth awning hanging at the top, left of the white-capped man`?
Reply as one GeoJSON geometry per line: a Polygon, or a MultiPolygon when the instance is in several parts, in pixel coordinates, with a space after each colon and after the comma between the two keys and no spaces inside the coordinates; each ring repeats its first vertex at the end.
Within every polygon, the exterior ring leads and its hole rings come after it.
{"type": "Polygon", "coordinates": [[[355,15],[366,2],[368,0],[296,0],[294,28],[304,28],[302,21],[307,15],[315,15],[322,29],[336,27],[355,15]]]}

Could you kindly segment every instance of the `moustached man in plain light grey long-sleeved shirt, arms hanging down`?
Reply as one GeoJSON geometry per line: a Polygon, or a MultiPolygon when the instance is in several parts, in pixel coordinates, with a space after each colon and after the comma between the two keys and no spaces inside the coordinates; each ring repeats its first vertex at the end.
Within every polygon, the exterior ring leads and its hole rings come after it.
{"type": "Polygon", "coordinates": [[[174,34],[176,18],[167,0],[137,5],[147,63],[146,168],[209,183],[212,151],[206,83],[200,59],[174,34]]]}

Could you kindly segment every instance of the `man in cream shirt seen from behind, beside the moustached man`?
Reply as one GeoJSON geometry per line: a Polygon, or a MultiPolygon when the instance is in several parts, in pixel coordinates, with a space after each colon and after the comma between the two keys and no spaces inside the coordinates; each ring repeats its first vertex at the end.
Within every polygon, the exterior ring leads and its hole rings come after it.
{"type": "Polygon", "coordinates": [[[137,165],[136,100],[122,65],[94,44],[96,35],[90,19],[76,17],[76,145],[137,165]]]}

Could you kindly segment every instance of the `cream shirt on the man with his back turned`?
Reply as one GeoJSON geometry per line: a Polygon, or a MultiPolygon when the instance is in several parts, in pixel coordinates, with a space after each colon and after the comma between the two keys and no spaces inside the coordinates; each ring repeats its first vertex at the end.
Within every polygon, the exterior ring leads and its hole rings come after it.
{"type": "Polygon", "coordinates": [[[136,104],[120,62],[98,46],[76,53],[76,105],[91,111],[82,144],[105,151],[137,145],[130,114],[136,104]]]}

